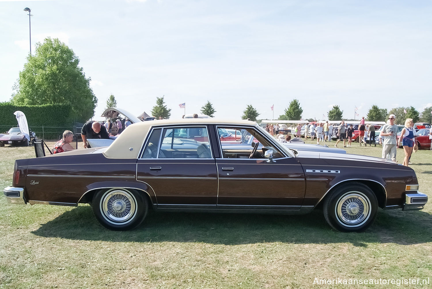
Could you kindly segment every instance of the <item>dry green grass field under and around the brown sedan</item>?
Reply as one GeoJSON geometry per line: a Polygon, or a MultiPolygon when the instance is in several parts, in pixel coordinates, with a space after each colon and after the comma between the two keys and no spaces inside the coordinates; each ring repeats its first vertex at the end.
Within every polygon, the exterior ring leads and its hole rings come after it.
{"type": "MultiPolygon", "coordinates": [[[[348,153],[381,156],[381,146],[353,146],[348,153]]],[[[33,156],[33,147],[1,147],[0,187],[11,185],[15,159],[33,156]]],[[[411,161],[431,198],[432,152],[422,149],[411,161]]],[[[330,229],[321,211],[150,213],[137,229],[113,232],[88,205],[11,205],[1,194],[0,288],[432,288],[431,202],[422,211],[379,209],[362,233],[330,229]],[[391,279],[394,285],[383,284],[391,279]]]]}

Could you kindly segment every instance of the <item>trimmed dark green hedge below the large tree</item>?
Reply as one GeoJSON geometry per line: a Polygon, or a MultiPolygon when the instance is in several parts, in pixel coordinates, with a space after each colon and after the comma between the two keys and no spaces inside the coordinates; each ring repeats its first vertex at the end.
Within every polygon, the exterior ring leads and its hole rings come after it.
{"type": "MultiPolygon", "coordinates": [[[[0,103],[1,126],[16,127],[15,111],[22,111],[27,118],[29,129],[42,137],[41,127],[56,127],[44,129],[45,139],[57,139],[64,130],[73,130],[73,116],[70,104],[54,105],[11,105],[0,103]],[[58,128],[57,128],[58,127],[58,128]]],[[[7,130],[7,129],[6,129],[7,130]]]]}

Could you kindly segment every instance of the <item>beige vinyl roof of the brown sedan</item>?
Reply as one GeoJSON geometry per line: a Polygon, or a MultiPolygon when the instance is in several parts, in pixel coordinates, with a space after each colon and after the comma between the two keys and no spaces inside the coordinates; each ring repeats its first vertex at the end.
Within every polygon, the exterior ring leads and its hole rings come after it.
{"type": "Polygon", "coordinates": [[[178,124],[222,124],[222,125],[247,125],[255,126],[259,130],[262,128],[254,121],[245,120],[226,120],[217,118],[186,118],[179,120],[154,120],[142,121],[136,124],[131,124],[127,127],[111,146],[103,152],[104,156],[109,159],[137,159],[140,149],[146,140],[147,134],[152,127],[172,126],[178,124]]]}

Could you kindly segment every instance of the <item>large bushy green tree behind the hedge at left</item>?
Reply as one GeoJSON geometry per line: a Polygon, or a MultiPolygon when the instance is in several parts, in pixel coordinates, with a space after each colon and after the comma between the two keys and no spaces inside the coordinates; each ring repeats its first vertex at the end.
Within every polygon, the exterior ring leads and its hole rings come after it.
{"type": "Polygon", "coordinates": [[[35,55],[27,57],[19,72],[14,105],[70,103],[72,115],[86,121],[95,114],[98,99],[89,86],[79,59],[58,38],[36,43],[35,55]]]}

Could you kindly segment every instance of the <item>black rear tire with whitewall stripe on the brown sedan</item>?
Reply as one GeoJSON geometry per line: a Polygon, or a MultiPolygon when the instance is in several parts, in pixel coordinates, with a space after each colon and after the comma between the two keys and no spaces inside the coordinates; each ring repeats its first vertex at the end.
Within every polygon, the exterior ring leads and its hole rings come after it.
{"type": "Polygon", "coordinates": [[[98,191],[94,195],[92,200],[92,209],[96,219],[102,226],[114,231],[123,231],[133,229],[140,225],[141,222],[143,222],[144,218],[147,215],[148,205],[146,202],[146,198],[135,190],[125,188],[110,188],[98,191]],[[135,212],[133,216],[131,216],[131,218],[127,220],[127,222],[116,222],[114,220],[109,221],[109,218],[103,212],[103,199],[107,194],[114,190],[124,191],[132,196],[130,200],[134,202],[135,212]]]}

